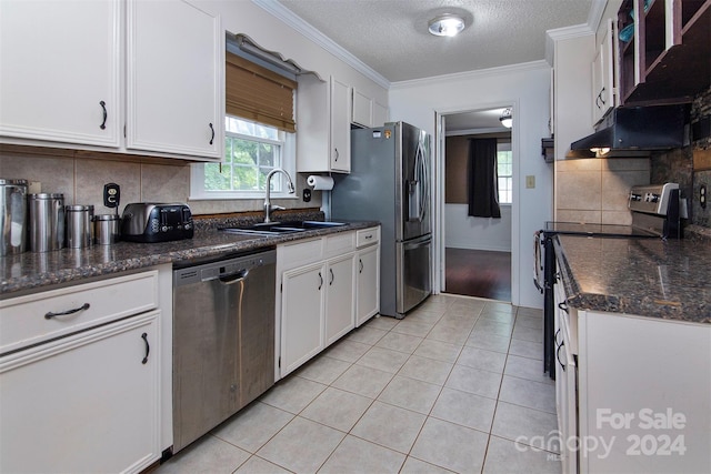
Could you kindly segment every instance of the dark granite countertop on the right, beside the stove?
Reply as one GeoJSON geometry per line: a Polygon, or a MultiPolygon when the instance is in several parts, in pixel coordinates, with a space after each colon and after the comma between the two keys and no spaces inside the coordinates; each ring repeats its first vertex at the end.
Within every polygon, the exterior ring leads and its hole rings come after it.
{"type": "Polygon", "coordinates": [[[553,242],[571,306],[711,323],[711,242],[573,235],[553,242]]]}

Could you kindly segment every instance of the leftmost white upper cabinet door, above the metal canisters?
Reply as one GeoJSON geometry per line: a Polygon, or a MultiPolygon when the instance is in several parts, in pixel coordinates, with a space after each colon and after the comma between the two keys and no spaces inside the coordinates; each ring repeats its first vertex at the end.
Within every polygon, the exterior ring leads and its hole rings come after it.
{"type": "Polygon", "coordinates": [[[0,135],[118,148],[119,0],[3,0],[0,135]]]}

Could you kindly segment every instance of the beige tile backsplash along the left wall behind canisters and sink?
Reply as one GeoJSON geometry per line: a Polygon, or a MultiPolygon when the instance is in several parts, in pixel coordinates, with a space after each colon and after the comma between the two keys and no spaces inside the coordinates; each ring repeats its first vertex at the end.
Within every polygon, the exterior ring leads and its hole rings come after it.
{"type": "MultiPolygon", "coordinates": [[[[0,178],[40,182],[41,192],[62,193],[66,204],[92,204],[94,214],[114,212],[103,206],[103,185],[111,182],[121,186],[119,212],[130,202],[184,202],[196,215],[258,211],[263,204],[263,199],[190,201],[190,163],[181,160],[3,145],[0,178]]],[[[272,201],[287,209],[319,208],[321,192],[308,203],[301,199],[306,178],[296,177],[293,199],[272,201]]]]}

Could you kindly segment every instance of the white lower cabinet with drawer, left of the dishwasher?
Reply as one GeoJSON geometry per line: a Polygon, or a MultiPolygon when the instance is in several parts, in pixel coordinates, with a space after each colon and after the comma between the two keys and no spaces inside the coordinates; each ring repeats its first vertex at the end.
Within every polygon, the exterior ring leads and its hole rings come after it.
{"type": "Polygon", "coordinates": [[[153,270],[0,302],[1,472],[140,472],[160,458],[159,286],[153,270]]]}

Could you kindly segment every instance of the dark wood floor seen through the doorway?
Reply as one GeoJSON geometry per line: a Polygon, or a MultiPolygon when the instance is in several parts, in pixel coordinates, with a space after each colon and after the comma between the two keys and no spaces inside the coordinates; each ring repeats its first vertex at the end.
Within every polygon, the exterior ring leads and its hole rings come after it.
{"type": "Polygon", "coordinates": [[[445,249],[445,292],[511,301],[511,253],[445,249]]]}

